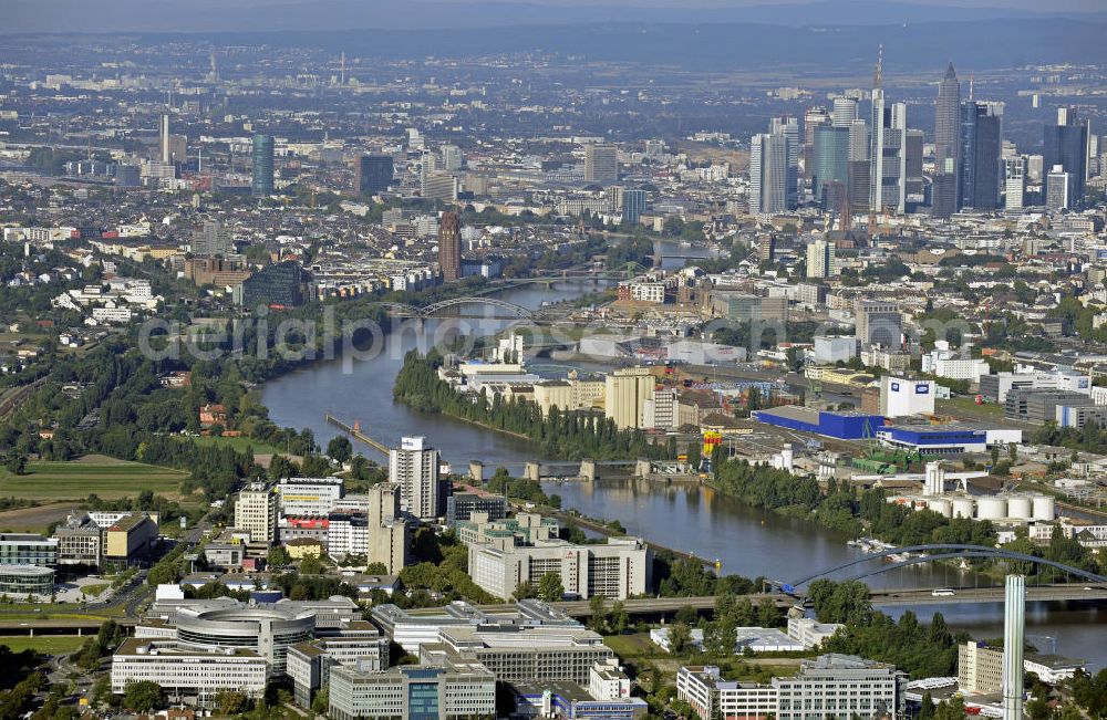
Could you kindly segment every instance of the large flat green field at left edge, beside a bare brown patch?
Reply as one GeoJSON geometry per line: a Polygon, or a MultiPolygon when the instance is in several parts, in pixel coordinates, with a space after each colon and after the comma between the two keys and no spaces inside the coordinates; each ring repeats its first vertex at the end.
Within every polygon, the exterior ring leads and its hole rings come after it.
{"type": "Polygon", "coordinates": [[[0,469],[0,495],[28,500],[83,499],[96,493],[105,500],[153,490],[174,498],[187,473],[141,462],[103,456],[85,456],[69,462],[29,462],[27,474],[0,469]]]}

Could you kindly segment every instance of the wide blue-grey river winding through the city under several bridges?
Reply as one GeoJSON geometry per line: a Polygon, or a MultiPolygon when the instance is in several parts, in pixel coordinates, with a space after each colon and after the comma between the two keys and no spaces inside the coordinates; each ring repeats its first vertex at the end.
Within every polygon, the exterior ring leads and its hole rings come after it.
{"type": "MultiPolygon", "coordinates": [[[[591,282],[530,285],[505,291],[503,300],[536,309],[593,292],[591,282]]],[[[416,413],[395,404],[392,385],[404,354],[426,351],[446,340],[472,340],[506,327],[503,316],[404,321],[385,337],[382,352],[370,359],[353,354],[324,361],[268,383],[262,401],[271,419],[281,426],[310,428],[325,447],[338,434],[324,414],[352,422],[364,432],[392,446],[404,435],[426,436],[457,472],[469,460],[482,460],[490,472],[506,467],[515,473],[528,460],[539,459],[530,442],[493,432],[442,415],[416,413]]],[[[368,447],[356,448],[370,459],[383,461],[368,447]]],[[[577,508],[596,518],[619,520],[632,533],[702,557],[718,559],[723,572],[748,577],[765,576],[790,582],[857,557],[860,551],[846,545],[846,538],[799,519],[748,508],[733,498],[697,486],[665,487],[641,480],[599,480],[592,484],[548,483],[547,492],[562,497],[566,508],[577,508]]],[[[972,574],[944,566],[921,566],[869,578],[879,587],[966,586],[986,584],[972,574]]],[[[915,608],[922,618],[942,612],[951,626],[977,638],[1001,636],[1000,605],[948,605],[915,608]]],[[[892,611],[898,614],[899,609],[892,611]]],[[[1094,668],[1107,665],[1107,608],[1076,603],[1032,603],[1026,632],[1042,650],[1056,650],[1085,658],[1094,668]]]]}

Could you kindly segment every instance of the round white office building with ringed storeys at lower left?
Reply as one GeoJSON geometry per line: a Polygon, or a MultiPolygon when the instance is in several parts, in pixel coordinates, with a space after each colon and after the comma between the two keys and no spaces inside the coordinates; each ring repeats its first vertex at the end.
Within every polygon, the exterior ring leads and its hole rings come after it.
{"type": "Polygon", "coordinates": [[[283,675],[288,648],[312,638],[311,611],[268,607],[180,608],[177,640],[201,648],[252,650],[269,660],[273,675],[283,675]]]}

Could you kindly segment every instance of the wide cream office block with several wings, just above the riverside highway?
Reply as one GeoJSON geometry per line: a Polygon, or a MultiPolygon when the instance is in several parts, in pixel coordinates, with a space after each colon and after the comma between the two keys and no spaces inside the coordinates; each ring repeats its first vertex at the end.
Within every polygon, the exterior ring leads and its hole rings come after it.
{"type": "Polygon", "coordinates": [[[469,576],[496,597],[510,597],[520,583],[536,586],[542,576],[561,578],[568,595],[625,599],[650,591],[652,553],[634,538],[609,539],[603,545],[575,545],[560,540],[534,546],[469,545],[469,576]]]}

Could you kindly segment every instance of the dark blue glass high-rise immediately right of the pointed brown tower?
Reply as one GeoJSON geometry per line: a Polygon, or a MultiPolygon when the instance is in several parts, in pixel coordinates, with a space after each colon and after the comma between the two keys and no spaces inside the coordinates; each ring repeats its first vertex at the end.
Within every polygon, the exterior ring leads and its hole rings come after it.
{"type": "Polygon", "coordinates": [[[961,207],[994,210],[1000,204],[1003,106],[961,104],[961,207]]]}

